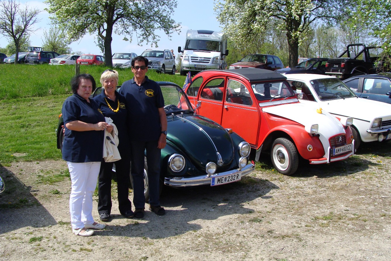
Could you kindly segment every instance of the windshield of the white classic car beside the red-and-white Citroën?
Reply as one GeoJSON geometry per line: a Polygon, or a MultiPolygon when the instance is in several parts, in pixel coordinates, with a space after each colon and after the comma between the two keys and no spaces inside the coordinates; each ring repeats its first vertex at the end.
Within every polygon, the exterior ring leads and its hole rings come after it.
{"type": "Polygon", "coordinates": [[[311,80],[310,84],[321,101],[357,97],[340,79],[311,80]]]}

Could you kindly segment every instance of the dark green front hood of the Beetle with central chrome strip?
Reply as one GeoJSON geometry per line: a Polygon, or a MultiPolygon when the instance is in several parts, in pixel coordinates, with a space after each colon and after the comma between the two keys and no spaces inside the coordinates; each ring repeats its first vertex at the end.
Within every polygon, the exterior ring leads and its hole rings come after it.
{"type": "Polygon", "coordinates": [[[222,167],[229,166],[234,159],[230,134],[206,117],[194,114],[167,117],[167,132],[167,140],[197,167],[204,168],[208,162],[217,164],[217,152],[224,162],[222,167]]]}

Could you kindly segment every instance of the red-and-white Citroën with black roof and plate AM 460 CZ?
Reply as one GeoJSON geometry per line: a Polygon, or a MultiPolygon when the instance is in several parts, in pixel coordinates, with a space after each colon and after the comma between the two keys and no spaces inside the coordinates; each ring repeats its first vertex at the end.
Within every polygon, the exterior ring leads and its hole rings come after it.
{"type": "Polygon", "coordinates": [[[271,70],[205,70],[185,88],[195,111],[267,151],[276,170],[292,175],[299,156],[310,164],[343,160],[354,151],[352,118],[299,103],[287,78],[271,70]]]}

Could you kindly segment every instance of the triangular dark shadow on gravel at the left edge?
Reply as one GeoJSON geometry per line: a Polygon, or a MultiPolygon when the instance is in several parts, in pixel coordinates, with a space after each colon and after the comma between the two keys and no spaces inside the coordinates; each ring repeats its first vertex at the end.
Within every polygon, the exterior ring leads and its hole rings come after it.
{"type": "Polygon", "coordinates": [[[1,166],[0,175],[5,191],[0,196],[0,234],[22,227],[56,225],[53,216],[34,197],[34,190],[23,184],[16,175],[1,166]]]}

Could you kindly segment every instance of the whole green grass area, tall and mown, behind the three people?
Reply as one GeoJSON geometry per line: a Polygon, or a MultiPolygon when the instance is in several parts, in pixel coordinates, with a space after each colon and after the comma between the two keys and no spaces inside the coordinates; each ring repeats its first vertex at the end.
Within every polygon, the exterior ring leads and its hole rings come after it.
{"type": "MultiPolygon", "coordinates": [[[[101,66],[81,66],[100,86],[101,66]]],[[[0,162],[59,159],[56,133],[63,101],[72,94],[70,79],[74,66],[0,64],[0,162]]],[[[119,85],[131,79],[130,69],[118,70],[119,85]]],[[[147,73],[155,81],[182,86],[185,76],[147,73]]]]}

